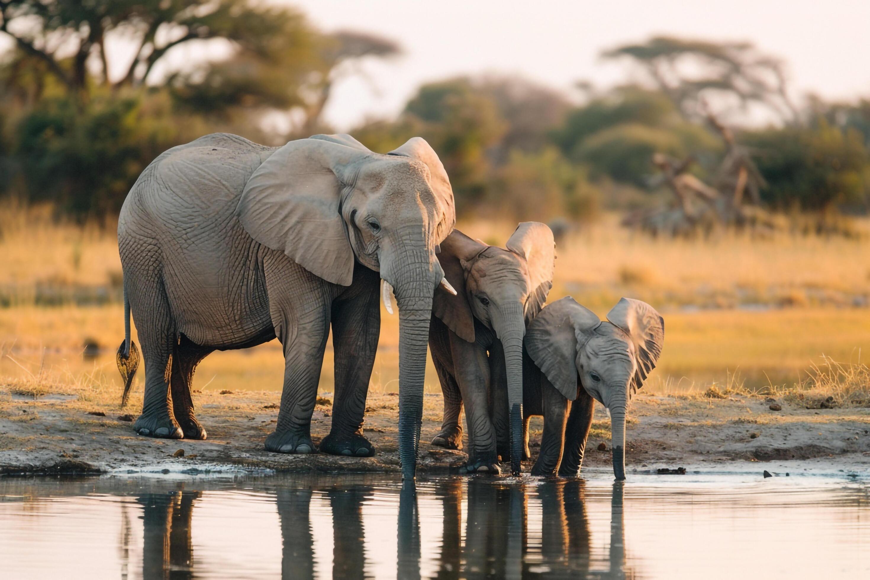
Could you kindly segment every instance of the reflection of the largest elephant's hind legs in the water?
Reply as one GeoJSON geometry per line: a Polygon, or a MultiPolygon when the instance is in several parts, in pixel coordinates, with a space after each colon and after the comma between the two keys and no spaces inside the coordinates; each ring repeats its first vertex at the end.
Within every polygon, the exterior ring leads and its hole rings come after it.
{"type": "Polygon", "coordinates": [[[191,515],[200,491],[148,493],[142,504],[142,577],[192,578],[191,515]]]}

